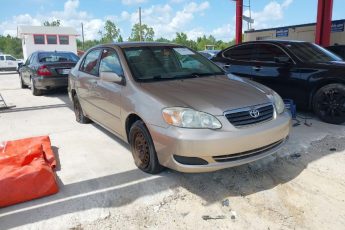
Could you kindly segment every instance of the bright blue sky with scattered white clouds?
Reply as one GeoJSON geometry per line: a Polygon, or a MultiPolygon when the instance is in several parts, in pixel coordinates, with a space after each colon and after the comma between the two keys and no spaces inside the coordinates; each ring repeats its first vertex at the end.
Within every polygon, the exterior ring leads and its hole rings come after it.
{"type": "MultiPolygon", "coordinates": [[[[345,0],[333,2],[333,20],[345,19],[345,0]]],[[[2,0],[0,34],[15,36],[18,25],[59,19],[79,34],[83,23],[85,39],[98,39],[98,31],[109,19],[126,39],[141,7],[142,22],[153,27],[155,38],[172,39],[176,32],[184,32],[191,39],[205,34],[230,41],[235,35],[235,5],[232,0],[2,0]]],[[[247,7],[244,14],[249,14],[247,7]]],[[[316,14],[317,0],[251,0],[255,29],[312,23],[316,14]]],[[[243,26],[247,28],[246,23],[243,26]]]]}

